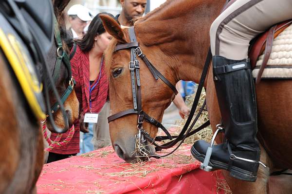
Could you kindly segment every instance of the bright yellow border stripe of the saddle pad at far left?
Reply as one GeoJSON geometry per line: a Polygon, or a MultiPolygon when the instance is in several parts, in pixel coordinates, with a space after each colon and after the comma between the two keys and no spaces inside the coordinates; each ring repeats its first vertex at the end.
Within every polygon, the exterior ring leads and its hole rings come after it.
{"type": "Polygon", "coordinates": [[[46,118],[45,113],[41,110],[37,102],[35,93],[41,93],[41,87],[38,86],[36,77],[33,77],[28,70],[26,63],[29,63],[28,57],[25,53],[21,52],[20,44],[15,36],[5,33],[0,29],[0,47],[2,48],[5,56],[7,57],[13,71],[15,72],[18,82],[23,90],[23,93],[30,105],[33,113],[39,120],[46,118]],[[8,38],[7,38],[8,36],[8,38]]]}

